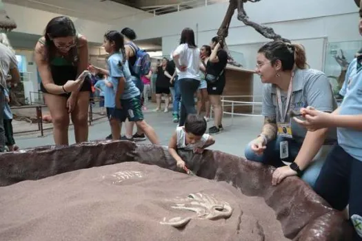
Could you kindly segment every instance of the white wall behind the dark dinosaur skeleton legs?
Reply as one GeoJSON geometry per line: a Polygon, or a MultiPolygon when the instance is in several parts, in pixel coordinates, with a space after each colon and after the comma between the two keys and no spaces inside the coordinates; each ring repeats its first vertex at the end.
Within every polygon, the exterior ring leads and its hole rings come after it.
{"type": "MultiPolygon", "coordinates": [[[[177,47],[180,32],[185,27],[196,32],[198,45],[210,43],[216,35],[228,3],[214,4],[205,8],[166,14],[153,19],[132,23],[139,37],[148,39],[162,36],[162,51],[170,53],[177,47]],[[197,24],[197,28],[196,28],[197,24]]],[[[310,67],[323,70],[326,46],[338,41],[361,41],[358,32],[359,14],[353,0],[273,0],[246,3],[250,20],[263,23],[277,34],[305,46],[310,67]]],[[[230,24],[226,39],[230,50],[241,52],[246,68],[254,69],[257,50],[270,41],[236,17],[230,24]]],[[[338,66],[336,66],[338,68],[338,66]]],[[[254,78],[254,95],[261,95],[261,82],[254,78]]]]}

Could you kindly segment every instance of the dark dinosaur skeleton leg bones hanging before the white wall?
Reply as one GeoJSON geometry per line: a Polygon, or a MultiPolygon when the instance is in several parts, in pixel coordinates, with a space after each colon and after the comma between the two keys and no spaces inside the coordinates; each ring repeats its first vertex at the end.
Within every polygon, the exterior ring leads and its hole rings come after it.
{"type": "MultiPolygon", "coordinates": [[[[245,25],[248,25],[254,30],[257,30],[261,35],[265,36],[267,39],[273,39],[273,40],[281,40],[290,43],[289,39],[282,38],[279,34],[276,34],[274,30],[268,26],[260,25],[259,23],[255,23],[253,21],[249,20],[248,14],[246,14],[244,10],[244,3],[251,1],[252,3],[256,3],[261,0],[230,0],[229,1],[229,7],[226,11],[225,17],[223,19],[223,22],[221,23],[221,26],[219,30],[217,31],[217,36],[219,36],[220,41],[223,41],[224,48],[228,52],[228,63],[231,65],[241,67],[242,65],[240,63],[237,63],[237,61],[234,61],[232,58],[230,51],[228,50],[228,45],[225,43],[225,38],[228,36],[230,22],[232,19],[232,16],[234,15],[235,10],[237,10],[238,15],[237,18],[239,21],[242,21],[245,25]]],[[[357,0],[355,0],[357,1],[357,0]]]]}

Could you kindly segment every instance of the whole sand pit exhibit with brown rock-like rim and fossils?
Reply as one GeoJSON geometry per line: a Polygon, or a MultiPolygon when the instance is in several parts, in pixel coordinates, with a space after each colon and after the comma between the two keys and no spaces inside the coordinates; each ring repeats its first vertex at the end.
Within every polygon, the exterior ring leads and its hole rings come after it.
{"type": "Polygon", "coordinates": [[[3,154],[1,240],[350,237],[342,214],[298,178],[272,187],[272,167],[220,151],[181,156],[197,176],[172,171],[164,147],[127,141],[3,154]]]}

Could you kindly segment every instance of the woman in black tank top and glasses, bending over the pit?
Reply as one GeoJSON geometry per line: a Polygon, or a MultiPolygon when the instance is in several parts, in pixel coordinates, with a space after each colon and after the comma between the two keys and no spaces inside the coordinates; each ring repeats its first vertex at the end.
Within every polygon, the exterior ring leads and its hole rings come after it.
{"type": "Polygon", "coordinates": [[[88,67],[88,41],[76,34],[68,17],[55,17],[35,46],[34,59],[52,116],[55,145],[68,145],[69,113],[76,143],[87,141],[91,86],[82,77],[86,75],[79,75],[88,67]]]}

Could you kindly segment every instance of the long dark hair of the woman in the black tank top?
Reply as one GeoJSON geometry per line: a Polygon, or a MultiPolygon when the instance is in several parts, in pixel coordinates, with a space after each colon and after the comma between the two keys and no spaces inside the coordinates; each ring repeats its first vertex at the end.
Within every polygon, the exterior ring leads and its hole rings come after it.
{"type": "MultiPolygon", "coordinates": [[[[77,36],[74,23],[69,17],[59,16],[51,19],[46,25],[46,30],[44,31],[44,37],[46,38],[46,60],[49,61],[54,56],[57,48],[55,47],[52,39],[67,37],[67,36],[77,36]]],[[[69,50],[71,52],[70,57],[72,58],[73,64],[78,61],[77,46],[74,46],[69,50]]]]}

